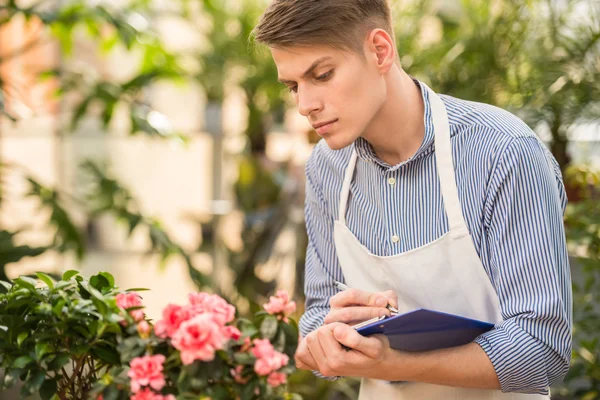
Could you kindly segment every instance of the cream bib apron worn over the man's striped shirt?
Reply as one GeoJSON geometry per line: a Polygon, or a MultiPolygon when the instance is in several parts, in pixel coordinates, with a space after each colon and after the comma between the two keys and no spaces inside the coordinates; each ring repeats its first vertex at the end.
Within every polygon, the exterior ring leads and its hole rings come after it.
{"type": "MultiPolygon", "coordinates": [[[[398,309],[429,308],[492,323],[502,321],[498,296],[487,276],[463,219],[454,177],[450,127],[442,100],[429,88],[435,159],[449,231],[422,247],[394,256],[372,254],[346,226],[346,206],[356,165],[353,152],[342,185],[335,247],[346,283],[369,292],[393,290],[398,309]]],[[[388,399],[548,399],[548,396],[499,390],[453,388],[420,382],[389,383],[363,378],[360,400],[388,399]]]]}

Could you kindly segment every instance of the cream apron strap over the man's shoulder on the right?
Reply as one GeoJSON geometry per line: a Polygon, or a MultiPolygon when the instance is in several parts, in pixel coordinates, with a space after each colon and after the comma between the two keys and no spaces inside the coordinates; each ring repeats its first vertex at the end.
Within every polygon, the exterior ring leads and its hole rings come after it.
{"type": "Polygon", "coordinates": [[[469,233],[463,217],[452,159],[452,145],[450,144],[450,124],[448,113],[442,99],[427,85],[423,84],[429,93],[429,104],[433,117],[435,136],[435,161],[440,179],[440,187],[450,232],[453,234],[469,233]]]}

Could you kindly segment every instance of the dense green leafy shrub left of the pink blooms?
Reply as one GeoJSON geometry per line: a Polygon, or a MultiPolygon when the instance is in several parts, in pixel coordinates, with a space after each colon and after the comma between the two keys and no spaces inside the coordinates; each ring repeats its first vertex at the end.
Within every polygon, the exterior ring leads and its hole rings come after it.
{"type": "Polygon", "coordinates": [[[130,335],[114,279],[102,272],[88,281],[77,271],[58,281],[37,277],[0,282],[0,390],[21,381],[22,397],[88,398],[97,377],[121,365],[117,339],[130,335]]]}

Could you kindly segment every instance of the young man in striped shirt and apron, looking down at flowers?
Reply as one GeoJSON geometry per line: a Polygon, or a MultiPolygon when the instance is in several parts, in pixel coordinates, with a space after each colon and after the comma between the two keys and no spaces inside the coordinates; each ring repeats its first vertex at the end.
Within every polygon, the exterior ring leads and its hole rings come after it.
{"type": "Polygon", "coordinates": [[[571,283],[562,178],[536,135],[407,75],[385,0],[275,0],[255,38],[324,139],[306,166],[297,365],[362,377],[361,400],[548,398],[569,367],[571,283]],[[495,328],[400,352],[350,327],[388,303],[495,328]]]}

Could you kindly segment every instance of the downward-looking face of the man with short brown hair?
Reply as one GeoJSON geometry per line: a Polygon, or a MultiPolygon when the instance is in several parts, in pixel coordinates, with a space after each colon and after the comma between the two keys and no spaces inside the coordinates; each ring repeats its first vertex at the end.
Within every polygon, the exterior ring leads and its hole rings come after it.
{"type": "Polygon", "coordinates": [[[271,48],[279,80],[333,150],[368,129],[386,94],[376,59],[328,46],[271,48]]]}

